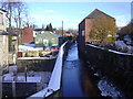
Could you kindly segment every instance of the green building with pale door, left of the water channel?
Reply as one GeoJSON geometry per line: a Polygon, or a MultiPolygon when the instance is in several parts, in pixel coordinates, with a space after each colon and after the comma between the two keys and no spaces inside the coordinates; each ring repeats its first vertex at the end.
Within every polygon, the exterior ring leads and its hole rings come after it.
{"type": "Polygon", "coordinates": [[[41,31],[40,34],[35,36],[37,46],[60,46],[62,42],[62,36],[50,31],[41,31]]]}

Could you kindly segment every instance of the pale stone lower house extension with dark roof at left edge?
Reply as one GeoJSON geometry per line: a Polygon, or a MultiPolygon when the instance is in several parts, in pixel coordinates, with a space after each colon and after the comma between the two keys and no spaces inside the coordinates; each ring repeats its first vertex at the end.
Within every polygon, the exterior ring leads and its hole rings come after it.
{"type": "Polygon", "coordinates": [[[0,70],[8,72],[10,64],[16,64],[18,52],[17,34],[0,31],[0,70]]]}

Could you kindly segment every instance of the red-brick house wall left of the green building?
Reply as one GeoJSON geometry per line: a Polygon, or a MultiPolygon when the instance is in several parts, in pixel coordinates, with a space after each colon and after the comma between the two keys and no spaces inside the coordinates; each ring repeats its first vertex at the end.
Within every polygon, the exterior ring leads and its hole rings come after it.
{"type": "Polygon", "coordinates": [[[30,44],[33,42],[33,29],[24,28],[22,33],[22,44],[30,44]]]}

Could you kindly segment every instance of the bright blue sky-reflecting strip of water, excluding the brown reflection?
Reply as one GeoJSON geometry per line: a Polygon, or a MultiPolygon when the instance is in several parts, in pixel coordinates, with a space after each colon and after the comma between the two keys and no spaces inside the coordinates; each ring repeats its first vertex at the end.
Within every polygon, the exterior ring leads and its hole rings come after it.
{"type": "Polygon", "coordinates": [[[80,61],[76,45],[70,47],[63,67],[63,97],[84,97],[80,82],[80,61]]]}

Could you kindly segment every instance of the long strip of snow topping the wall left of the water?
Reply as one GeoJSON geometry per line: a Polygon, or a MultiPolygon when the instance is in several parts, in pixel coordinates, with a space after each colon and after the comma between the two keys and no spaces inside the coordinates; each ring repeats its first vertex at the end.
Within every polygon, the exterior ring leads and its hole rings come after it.
{"type": "Polygon", "coordinates": [[[28,99],[32,99],[33,97],[39,97],[39,98],[44,98],[48,97],[49,95],[53,94],[54,91],[60,89],[61,86],[61,74],[62,74],[62,61],[63,61],[63,47],[68,42],[62,44],[59,51],[59,55],[49,81],[49,85],[45,89],[30,96],[28,99]],[[50,91],[48,91],[50,90],[50,91]]]}

